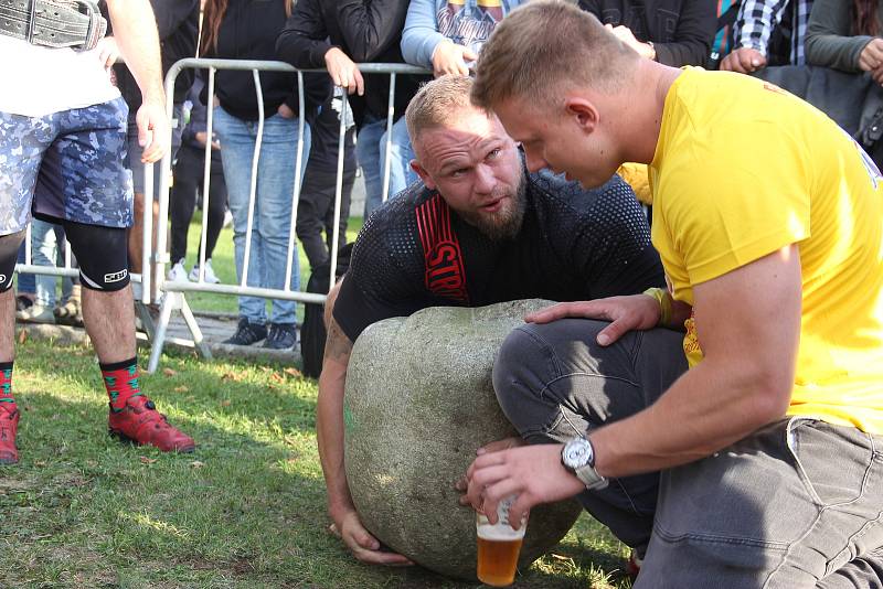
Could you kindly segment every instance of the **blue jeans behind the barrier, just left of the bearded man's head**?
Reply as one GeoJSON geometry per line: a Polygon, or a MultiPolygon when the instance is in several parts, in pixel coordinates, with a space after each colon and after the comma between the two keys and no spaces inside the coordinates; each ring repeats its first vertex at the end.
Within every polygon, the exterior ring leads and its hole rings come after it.
{"type": "MultiPolygon", "coordinates": [[[[387,197],[392,199],[417,180],[417,174],[411,169],[414,150],[411,149],[405,117],[401,117],[393,124],[393,139],[390,147],[390,192],[387,197]]],[[[385,118],[377,119],[371,115],[365,116],[365,122],[359,130],[355,141],[355,157],[364,174],[364,218],[368,218],[383,204],[383,172],[386,169],[385,118]]]]}

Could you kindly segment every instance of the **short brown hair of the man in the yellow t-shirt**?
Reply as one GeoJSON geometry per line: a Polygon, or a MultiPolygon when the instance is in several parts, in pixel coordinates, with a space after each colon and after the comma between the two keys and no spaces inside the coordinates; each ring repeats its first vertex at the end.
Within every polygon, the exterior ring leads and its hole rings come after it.
{"type": "Polygon", "coordinates": [[[509,98],[547,101],[576,85],[616,92],[638,60],[588,12],[535,0],[510,12],[481,47],[471,99],[490,110],[509,98]]]}

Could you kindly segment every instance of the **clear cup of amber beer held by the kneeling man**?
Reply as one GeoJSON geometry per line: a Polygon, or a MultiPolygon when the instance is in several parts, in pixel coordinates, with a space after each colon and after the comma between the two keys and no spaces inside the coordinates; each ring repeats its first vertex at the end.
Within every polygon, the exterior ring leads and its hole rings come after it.
{"type": "Polygon", "coordinates": [[[509,524],[509,507],[515,495],[497,504],[497,523],[491,524],[483,513],[476,512],[478,536],[478,580],[491,587],[506,587],[515,580],[518,555],[524,539],[526,520],[518,529],[509,524]]]}

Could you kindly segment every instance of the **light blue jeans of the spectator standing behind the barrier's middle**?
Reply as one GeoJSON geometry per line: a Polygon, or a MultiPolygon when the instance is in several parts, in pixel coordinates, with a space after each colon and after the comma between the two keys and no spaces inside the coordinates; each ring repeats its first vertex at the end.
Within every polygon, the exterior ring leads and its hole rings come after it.
{"type": "MultiPolygon", "coordinates": [[[[214,109],[214,127],[221,141],[221,158],[227,184],[230,212],[233,215],[233,246],[236,276],[242,281],[245,259],[245,238],[248,225],[248,197],[252,182],[252,159],[257,140],[257,121],[238,119],[222,107],[214,109]]],[[[288,264],[297,136],[299,120],[274,115],[264,120],[264,137],[257,164],[254,218],[247,286],[284,289],[288,264]]],[[[310,129],[304,129],[301,179],[310,152],[310,129]]],[[[290,289],[300,286],[300,264],[295,244],[291,251],[290,289]]],[[[295,323],[295,301],[273,299],[270,321],[295,323]]],[[[249,323],[267,322],[266,299],[240,297],[240,318],[249,323]]]]}

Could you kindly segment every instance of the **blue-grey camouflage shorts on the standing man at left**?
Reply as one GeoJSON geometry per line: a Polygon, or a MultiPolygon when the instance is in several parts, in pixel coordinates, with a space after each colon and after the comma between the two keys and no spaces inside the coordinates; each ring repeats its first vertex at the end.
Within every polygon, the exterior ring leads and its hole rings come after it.
{"type": "Polygon", "coordinates": [[[123,98],[44,117],[0,113],[0,235],[24,229],[32,210],[87,225],[130,226],[127,113],[123,98]]]}

